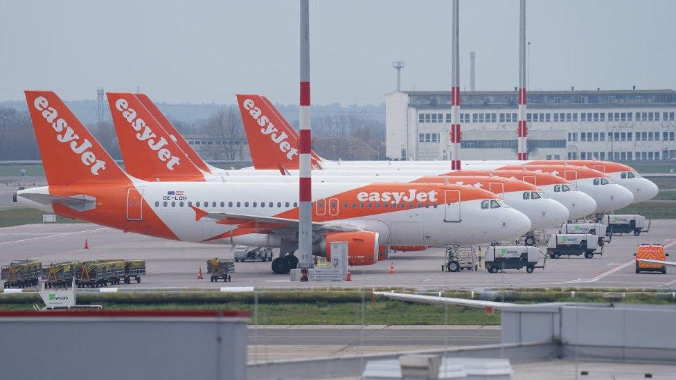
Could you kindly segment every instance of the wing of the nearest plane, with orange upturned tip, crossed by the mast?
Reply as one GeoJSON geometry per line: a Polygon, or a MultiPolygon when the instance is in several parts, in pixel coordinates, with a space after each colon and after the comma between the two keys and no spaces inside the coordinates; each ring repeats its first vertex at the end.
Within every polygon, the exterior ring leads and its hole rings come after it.
{"type": "MultiPolygon", "coordinates": [[[[280,217],[262,217],[258,215],[234,214],[231,212],[207,212],[195,206],[190,206],[195,210],[195,220],[204,217],[214,219],[217,224],[235,224],[240,227],[253,228],[257,224],[264,226],[268,230],[275,228],[298,228],[298,219],[287,219],[280,217]]],[[[361,231],[350,224],[335,224],[330,222],[313,221],[312,230],[319,232],[354,232],[361,231]]]]}

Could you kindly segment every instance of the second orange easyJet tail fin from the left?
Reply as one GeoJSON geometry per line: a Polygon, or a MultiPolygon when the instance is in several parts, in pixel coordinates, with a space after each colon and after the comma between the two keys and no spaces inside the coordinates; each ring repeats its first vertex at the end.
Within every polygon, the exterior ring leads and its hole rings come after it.
{"type": "Polygon", "coordinates": [[[133,93],[107,93],[125,170],[146,181],[204,181],[188,156],[133,93]]]}

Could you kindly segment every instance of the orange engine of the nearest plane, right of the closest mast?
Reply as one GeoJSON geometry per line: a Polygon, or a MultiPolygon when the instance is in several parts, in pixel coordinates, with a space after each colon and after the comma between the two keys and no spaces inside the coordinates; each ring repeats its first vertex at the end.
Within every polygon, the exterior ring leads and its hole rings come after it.
{"type": "Polygon", "coordinates": [[[331,260],[331,243],[348,243],[349,265],[373,265],[378,261],[378,233],[359,231],[350,233],[328,233],[324,238],[323,253],[331,260]]]}

